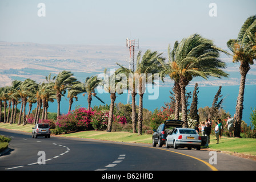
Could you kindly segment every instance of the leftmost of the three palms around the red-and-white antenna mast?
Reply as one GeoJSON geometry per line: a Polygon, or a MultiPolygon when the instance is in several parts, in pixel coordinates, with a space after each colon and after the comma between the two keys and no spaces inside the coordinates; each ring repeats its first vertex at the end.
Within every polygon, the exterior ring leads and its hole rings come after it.
{"type": "Polygon", "coordinates": [[[114,104],[115,104],[115,99],[117,96],[115,95],[116,93],[122,94],[123,89],[125,89],[126,82],[123,82],[122,78],[118,77],[117,72],[114,72],[110,77],[106,75],[107,69],[104,71],[104,80],[99,84],[103,85],[104,89],[106,92],[110,93],[110,109],[109,109],[109,121],[107,123],[107,130],[111,132],[112,130],[112,123],[113,123],[113,116],[114,116],[114,104]]]}

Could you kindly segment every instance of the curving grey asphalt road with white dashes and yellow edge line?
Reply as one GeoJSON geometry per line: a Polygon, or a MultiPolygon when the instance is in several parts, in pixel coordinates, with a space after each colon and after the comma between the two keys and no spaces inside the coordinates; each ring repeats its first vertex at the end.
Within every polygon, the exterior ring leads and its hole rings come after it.
{"type": "Polygon", "coordinates": [[[31,138],[30,134],[5,129],[0,129],[0,134],[12,138],[10,151],[0,156],[0,171],[256,170],[254,160],[219,152],[213,158],[209,151],[174,150],[149,144],[53,136],[31,138]]]}

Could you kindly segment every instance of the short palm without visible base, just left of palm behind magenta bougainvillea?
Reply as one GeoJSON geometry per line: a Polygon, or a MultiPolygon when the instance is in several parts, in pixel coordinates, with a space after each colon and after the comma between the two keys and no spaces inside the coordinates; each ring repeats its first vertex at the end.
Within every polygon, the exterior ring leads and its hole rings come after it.
{"type": "Polygon", "coordinates": [[[68,110],[69,113],[71,111],[71,106],[73,104],[73,98],[75,98],[75,101],[78,101],[77,95],[79,93],[82,93],[83,91],[84,91],[83,84],[81,82],[78,82],[77,84],[71,85],[67,89],[67,98],[69,98],[69,110],[68,110]]]}

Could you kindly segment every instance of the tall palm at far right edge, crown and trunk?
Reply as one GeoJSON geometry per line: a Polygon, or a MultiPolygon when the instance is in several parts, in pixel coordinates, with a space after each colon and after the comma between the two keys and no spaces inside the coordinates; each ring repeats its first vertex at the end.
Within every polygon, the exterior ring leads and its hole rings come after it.
{"type": "Polygon", "coordinates": [[[234,135],[240,137],[241,120],[243,114],[243,95],[245,93],[246,75],[250,70],[256,59],[256,15],[250,16],[246,19],[241,27],[238,38],[230,39],[227,42],[227,47],[233,52],[233,63],[240,62],[241,81],[239,86],[239,93],[237,97],[237,106],[235,107],[235,122],[234,135]]]}

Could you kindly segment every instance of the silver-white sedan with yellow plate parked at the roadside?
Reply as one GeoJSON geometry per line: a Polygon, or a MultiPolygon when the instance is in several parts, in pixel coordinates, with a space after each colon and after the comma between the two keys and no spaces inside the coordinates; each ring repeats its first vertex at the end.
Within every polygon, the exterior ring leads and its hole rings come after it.
{"type": "Polygon", "coordinates": [[[201,137],[194,129],[183,127],[174,129],[173,132],[166,137],[166,148],[173,146],[175,149],[178,147],[187,147],[189,150],[191,150],[191,148],[197,148],[197,150],[200,150],[201,143],[201,137]]]}

